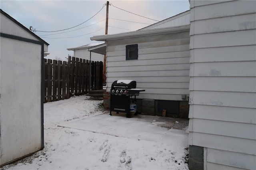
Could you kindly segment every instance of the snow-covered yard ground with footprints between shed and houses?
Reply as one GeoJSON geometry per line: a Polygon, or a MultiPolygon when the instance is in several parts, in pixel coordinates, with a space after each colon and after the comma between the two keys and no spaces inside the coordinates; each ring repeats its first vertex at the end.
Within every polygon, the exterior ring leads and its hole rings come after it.
{"type": "Polygon", "coordinates": [[[1,170],[188,170],[184,130],[102,114],[88,98],[44,104],[45,148],[1,170]]]}

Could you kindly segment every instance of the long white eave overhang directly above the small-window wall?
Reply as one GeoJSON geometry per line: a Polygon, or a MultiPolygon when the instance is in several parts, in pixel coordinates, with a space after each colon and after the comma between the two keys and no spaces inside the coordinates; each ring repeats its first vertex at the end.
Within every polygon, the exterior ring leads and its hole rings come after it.
{"type": "Polygon", "coordinates": [[[117,40],[124,38],[134,38],[134,37],[144,37],[147,35],[159,35],[166,33],[178,33],[189,31],[190,25],[182,25],[178,27],[168,27],[168,28],[160,28],[160,29],[148,29],[148,30],[140,30],[140,31],[132,31],[127,33],[118,33],[118,34],[109,34],[109,35],[98,35],[90,37],[93,41],[108,41],[108,40],[117,40]]]}

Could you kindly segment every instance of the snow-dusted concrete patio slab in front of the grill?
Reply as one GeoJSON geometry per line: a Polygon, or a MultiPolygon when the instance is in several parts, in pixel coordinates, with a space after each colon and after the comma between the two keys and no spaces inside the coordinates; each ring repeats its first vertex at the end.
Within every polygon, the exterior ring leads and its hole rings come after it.
{"type": "MultiPolygon", "coordinates": [[[[184,130],[162,127],[168,125],[166,121],[168,118],[164,120],[160,119],[160,121],[158,119],[160,117],[150,115],[133,115],[132,118],[126,118],[122,113],[113,114],[112,116],[106,113],[75,121],[68,121],[58,126],[154,142],[179,138],[184,139],[184,142],[187,143],[184,130]],[[154,136],[153,139],[152,136],[154,136]]],[[[169,123],[169,126],[174,125],[174,123],[169,123]]]]}

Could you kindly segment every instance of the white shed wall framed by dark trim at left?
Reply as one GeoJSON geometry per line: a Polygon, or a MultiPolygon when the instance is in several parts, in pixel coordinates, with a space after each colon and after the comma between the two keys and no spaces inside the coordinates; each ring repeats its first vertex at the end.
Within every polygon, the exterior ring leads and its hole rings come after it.
{"type": "Polygon", "coordinates": [[[4,37],[0,41],[4,164],[41,149],[41,45],[4,37]]]}

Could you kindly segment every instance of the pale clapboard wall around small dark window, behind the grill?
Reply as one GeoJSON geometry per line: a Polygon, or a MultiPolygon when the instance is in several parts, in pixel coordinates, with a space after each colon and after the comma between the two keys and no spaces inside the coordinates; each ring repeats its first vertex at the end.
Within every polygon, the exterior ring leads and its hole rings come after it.
{"type": "Polygon", "coordinates": [[[189,31],[108,41],[107,91],[119,79],[137,81],[138,98],[182,100],[189,94],[189,31]],[[126,61],[126,45],[138,44],[138,60],[126,61]]]}

